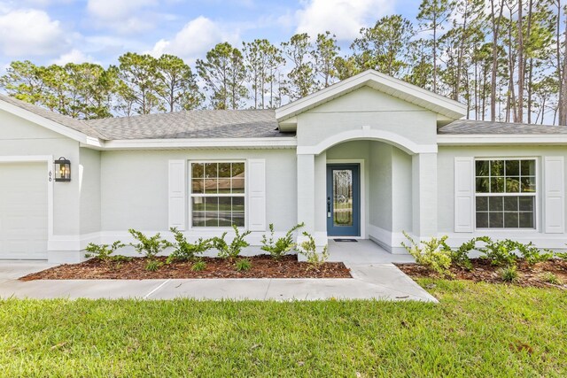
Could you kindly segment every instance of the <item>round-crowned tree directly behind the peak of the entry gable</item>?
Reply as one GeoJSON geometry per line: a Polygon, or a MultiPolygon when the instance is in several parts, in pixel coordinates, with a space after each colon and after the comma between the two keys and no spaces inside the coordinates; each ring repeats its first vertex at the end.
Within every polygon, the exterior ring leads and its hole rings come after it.
{"type": "Polygon", "coordinates": [[[394,77],[408,67],[408,46],[413,27],[399,14],[378,19],[374,27],[362,27],[361,37],[351,45],[361,69],[375,69],[394,77]]]}

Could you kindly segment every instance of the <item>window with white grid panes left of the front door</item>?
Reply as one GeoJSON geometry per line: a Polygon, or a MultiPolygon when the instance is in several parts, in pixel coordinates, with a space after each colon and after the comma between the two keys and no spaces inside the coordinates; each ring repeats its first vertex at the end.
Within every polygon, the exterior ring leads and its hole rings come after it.
{"type": "Polygon", "coordinates": [[[191,224],[245,226],[245,163],[195,162],[191,169],[191,224]]]}

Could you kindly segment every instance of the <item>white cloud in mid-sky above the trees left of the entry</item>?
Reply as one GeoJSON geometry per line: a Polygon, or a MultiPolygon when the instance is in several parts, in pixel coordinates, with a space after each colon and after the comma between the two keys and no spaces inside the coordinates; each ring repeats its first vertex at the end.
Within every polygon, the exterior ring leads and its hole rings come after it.
{"type": "Polygon", "coordinates": [[[162,39],[156,42],[150,54],[159,57],[162,54],[173,54],[192,63],[196,58],[203,58],[206,51],[212,49],[216,43],[237,43],[237,31],[228,31],[214,21],[199,16],[177,32],[171,40],[162,39]]]}

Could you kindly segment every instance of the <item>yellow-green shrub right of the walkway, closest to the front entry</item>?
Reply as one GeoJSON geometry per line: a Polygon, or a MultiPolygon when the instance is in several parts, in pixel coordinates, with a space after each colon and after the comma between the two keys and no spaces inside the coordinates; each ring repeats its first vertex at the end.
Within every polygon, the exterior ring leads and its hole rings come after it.
{"type": "Polygon", "coordinates": [[[404,236],[408,239],[411,245],[401,243],[401,246],[409,252],[414,258],[416,263],[421,266],[427,266],[439,274],[441,277],[452,276],[449,268],[451,267],[451,251],[448,248],[447,235],[441,236],[440,239],[431,237],[428,242],[420,242],[417,244],[405,231],[404,236]]]}

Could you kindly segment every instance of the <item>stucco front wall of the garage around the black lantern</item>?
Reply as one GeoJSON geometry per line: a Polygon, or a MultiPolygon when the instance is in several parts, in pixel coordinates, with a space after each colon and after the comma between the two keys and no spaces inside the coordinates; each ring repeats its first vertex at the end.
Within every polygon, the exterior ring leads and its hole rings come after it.
{"type": "MultiPolygon", "coordinates": [[[[79,143],[8,112],[0,111],[0,156],[51,155],[71,161],[71,181],[53,185],[53,233],[77,235],[79,143]]],[[[48,178],[46,177],[45,180],[48,178]]]]}

